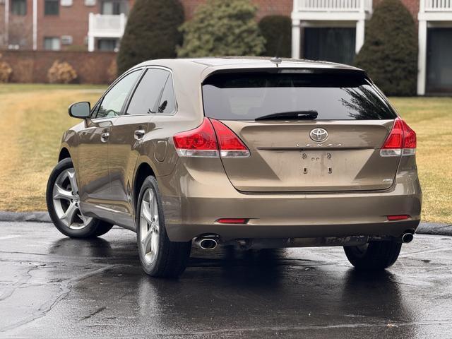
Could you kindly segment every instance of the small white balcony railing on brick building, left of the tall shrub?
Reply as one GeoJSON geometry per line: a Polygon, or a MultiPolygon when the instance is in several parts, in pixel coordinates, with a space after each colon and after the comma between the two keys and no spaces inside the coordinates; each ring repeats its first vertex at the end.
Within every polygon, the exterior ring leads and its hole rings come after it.
{"type": "Polygon", "coordinates": [[[88,35],[93,37],[122,37],[126,28],[126,16],[90,13],[88,35]]]}

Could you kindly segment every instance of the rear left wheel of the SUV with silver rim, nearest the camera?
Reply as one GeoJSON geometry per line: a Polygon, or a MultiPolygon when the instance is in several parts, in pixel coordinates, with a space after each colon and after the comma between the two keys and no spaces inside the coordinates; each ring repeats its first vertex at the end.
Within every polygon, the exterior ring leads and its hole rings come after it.
{"type": "Polygon", "coordinates": [[[189,261],[191,241],[169,240],[155,177],[144,180],[136,205],[136,239],[143,270],[151,277],[177,278],[189,261]]]}

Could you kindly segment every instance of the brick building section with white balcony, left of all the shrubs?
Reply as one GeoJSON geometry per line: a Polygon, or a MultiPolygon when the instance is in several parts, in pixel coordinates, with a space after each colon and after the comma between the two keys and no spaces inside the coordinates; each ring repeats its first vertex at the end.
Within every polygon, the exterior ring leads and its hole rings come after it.
{"type": "Polygon", "coordinates": [[[133,0],[0,0],[0,48],[114,50],[133,0]]]}

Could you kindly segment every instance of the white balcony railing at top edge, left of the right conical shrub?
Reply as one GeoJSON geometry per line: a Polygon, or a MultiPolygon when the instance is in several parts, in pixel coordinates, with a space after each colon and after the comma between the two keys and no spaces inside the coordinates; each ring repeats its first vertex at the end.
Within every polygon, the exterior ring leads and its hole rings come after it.
{"type": "Polygon", "coordinates": [[[371,12],[372,0],[296,0],[294,11],[371,12]]]}

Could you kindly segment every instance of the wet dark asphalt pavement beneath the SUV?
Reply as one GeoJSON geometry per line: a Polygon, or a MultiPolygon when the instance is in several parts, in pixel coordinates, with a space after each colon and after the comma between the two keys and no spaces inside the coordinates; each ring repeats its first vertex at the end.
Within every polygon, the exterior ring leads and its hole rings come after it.
{"type": "Polygon", "coordinates": [[[1,338],[452,338],[452,237],[417,235],[383,273],[356,272],[342,248],[195,249],[160,280],[126,230],[0,230],[1,338]]]}

